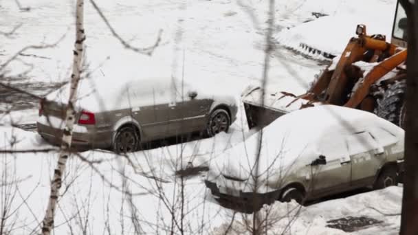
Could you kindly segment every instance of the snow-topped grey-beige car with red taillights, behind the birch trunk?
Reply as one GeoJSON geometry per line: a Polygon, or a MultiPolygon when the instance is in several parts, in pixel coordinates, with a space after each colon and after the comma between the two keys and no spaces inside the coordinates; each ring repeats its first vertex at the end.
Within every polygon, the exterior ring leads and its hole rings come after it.
{"type": "MultiPolygon", "coordinates": [[[[61,143],[69,85],[41,102],[37,129],[61,143]]],[[[131,152],[138,144],[192,132],[215,135],[236,119],[236,101],[174,78],[98,78],[80,81],[72,144],[131,152]]]]}

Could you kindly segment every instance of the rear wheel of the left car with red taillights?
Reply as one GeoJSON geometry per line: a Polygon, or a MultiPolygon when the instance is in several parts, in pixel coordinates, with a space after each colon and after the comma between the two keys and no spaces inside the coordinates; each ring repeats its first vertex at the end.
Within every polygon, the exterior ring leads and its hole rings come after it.
{"type": "Polygon", "coordinates": [[[140,138],[133,126],[122,126],[113,140],[115,153],[132,153],[137,149],[140,138]]]}

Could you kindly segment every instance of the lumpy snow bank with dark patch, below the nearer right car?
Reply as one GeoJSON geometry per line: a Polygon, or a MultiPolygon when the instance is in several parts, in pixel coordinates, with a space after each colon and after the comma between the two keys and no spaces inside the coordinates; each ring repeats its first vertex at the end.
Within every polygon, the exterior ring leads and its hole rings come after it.
{"type": "MultiPolygon", "coordinates": [[[[402,188],[389,187],[384,190],[366,192],[345,199],[325,201],[308,207],[291,203],[274,203],[265,205],[259,213],[259,219],[268,218],[270,223],[261,225],[266,234],[397,234],[401,212],[402,188]],[[354,232],[337,230],[329,221],[349,217],[375,219],[380,223],[364,227],[354,227],[354,232]]],[[[248,227],[252,225],[252,216],[236,216],[234,223],[223,223],[212,234],[251,234],[248,227]],[[247,221],[247,222],[245,222],[247,221]]]]}

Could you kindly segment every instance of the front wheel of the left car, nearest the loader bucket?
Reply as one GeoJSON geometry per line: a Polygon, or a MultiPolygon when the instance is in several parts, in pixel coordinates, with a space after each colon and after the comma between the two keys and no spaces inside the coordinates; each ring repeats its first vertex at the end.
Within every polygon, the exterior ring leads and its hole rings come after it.
{"type": "Polygon", "coordinates": [[[228,132],[231,124],[231,117],[225,109],[216,109],[210,113],[206,132],[209,137],[222,131],[228,132]]]}

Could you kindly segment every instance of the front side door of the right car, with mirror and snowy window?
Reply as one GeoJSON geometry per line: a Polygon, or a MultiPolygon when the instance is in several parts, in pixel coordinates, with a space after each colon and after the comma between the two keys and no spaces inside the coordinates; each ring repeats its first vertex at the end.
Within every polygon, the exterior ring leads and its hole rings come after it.
{"type": "Polygon", "coordinates": [[[327,162],[324,165],[311,166],[313,197],[323,197],[346,190],[350,182],[351,160],[344,137],[328,135],[320,139],[318,148],[316,157],[323,155],[327,162]]]}

